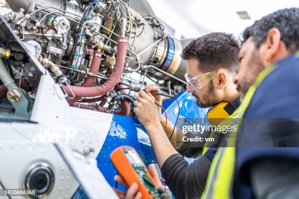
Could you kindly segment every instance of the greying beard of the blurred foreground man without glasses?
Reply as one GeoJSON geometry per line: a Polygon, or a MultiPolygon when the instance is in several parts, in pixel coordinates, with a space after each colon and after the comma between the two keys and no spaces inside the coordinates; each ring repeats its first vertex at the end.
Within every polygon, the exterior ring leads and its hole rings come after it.
{"type": "Polygon", "coordinates": [[[236,87],[237,91],[240,92],[241,100],[244,98],[250,86],[252,86],[256,82],[256,78],[259,75],[259,73],[264,69],[262,61],[260,60],[260,57],[258,55],[257,49],[252,52],[250,60],[251,61],[247,65],[247,69],[251,68],[251,70],[253,70],[251,72],[253,73],[252,75],[253,78],[249,79],[244,77],[242,80],[239,81],[236,87]]]}

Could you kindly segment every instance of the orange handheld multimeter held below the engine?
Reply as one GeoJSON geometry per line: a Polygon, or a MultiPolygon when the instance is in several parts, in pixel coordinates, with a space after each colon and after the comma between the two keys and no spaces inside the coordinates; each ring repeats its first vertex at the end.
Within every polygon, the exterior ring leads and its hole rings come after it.
{"type": "Polygon", "coordinates": [[[147,167],[133,147],[120,146],[116,148],[111,153],[110,159],[128,186],[134,182],[138,184],[143,199],[170,199],[162,187],[157,187],[147,167]]]}

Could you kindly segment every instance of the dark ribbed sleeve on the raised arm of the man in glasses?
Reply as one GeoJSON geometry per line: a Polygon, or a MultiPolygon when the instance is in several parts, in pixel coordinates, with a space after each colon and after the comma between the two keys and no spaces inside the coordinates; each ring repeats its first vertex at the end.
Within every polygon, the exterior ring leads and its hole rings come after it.
{"type": "Polygon", "coordinates": [[[162,165],[161,172],[176,199],[198,199],[208,178],[211,160],[201,156],[193,163],[173,154],[162,165]]]}

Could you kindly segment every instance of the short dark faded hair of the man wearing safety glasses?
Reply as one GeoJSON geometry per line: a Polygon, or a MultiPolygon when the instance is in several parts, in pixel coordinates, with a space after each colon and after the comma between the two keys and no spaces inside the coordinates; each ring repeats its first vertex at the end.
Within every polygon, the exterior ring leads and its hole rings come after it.
{"type": "Polygon", "coordinates": [[[237,72],[239,69],[239,41],[233,34],[214,32],[192,40],[182,51],[185,60],[196,59],[203,72],[227,68],[237,72]]]}

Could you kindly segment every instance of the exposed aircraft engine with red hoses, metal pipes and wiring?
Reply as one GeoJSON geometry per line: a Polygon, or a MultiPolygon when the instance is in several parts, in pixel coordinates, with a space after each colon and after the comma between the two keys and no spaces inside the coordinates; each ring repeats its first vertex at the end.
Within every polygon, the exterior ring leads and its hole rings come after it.
{"type": "MultiPolygon", "coordinates": [[[[134,91],[132,87],[156,83],[171,95],[186,87],[186,62],[180,58],[185,44],[167,35],[159,20],[129,8],[128,0],[6,2],[13,11],[5,19],[27,47],[25,53],[64,85],[72,106],[128,115],[134,94],[126,91],[134,91]]],[[[34,99],[41,72],[29,61],[12,59],[18,50],[7,46],[0,42],[0,51],[13,56],[1,54],[0,67],[34,99]]],[[[0,99],[5,98],[5,86],[0,82],[0,99]]]]}

